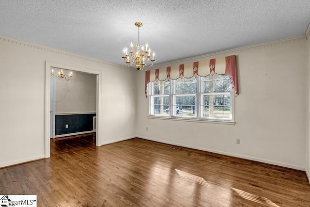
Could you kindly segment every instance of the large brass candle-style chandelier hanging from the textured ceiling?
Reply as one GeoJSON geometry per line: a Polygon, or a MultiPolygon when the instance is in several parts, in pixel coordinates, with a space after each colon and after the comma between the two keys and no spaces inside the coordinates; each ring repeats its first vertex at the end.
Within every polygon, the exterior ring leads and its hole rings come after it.
{"type": "Polygon", "coordinates": [[[128,66],[135,66],[137,70],[143,70],[144,66],[152,66],[155,62],[154,56],[155,52],[153,51],[152,59],[151,59],[151,49],[148,48],[149,45],[146,43],[145,48],[144,45],[140,48],[140,27],[142,27],[141,22],[136,22],[135,25],[138,27],[138,44],[136,52],[133,51],[133,44],[130,44],[130,51],[128,54],[128,48],[124,48],[124,61],[128,66]]]}

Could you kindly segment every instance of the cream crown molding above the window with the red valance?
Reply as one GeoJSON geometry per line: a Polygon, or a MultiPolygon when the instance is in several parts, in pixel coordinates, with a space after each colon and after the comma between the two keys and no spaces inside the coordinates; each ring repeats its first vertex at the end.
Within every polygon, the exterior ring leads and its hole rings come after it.
{"type": "Polygon", "coordinates": [[[286,39],[282,39],[282,40],[276,40],[276,41],[256,44],[256,45],[242,47],[242,48],[234,48],[234,49],[224,50],[224,51],[210,53],[210,54],[206,54],[206,55],[196,56],[196,57],[192,57],[192,58],[186,58],[186,59],[180,59],[180,60],[176,60],[176,61],[172,61],[172,62],[156,64],[156,65],[152,66],[150,68],[150,70],[156,69],[156,68],[171,66],[173,64],[188,64],[188,63],[197,62],[197,61],[216,59],[216,58],[221,58],[223,56],[236,55],[238,53],[246,52],[246,51],[250,51],[250,50],[261,49],[261,48],[269,48],[269,47],[273,47],[273,46],[289,44],[292,42],[299,42],[299,41],[304,41],[304,40],[306,40],[306,36],[300,35],[300,36],[290,37],[290,38],[286,38],[286,39]]]}

